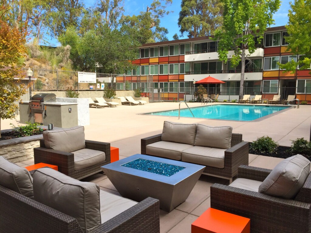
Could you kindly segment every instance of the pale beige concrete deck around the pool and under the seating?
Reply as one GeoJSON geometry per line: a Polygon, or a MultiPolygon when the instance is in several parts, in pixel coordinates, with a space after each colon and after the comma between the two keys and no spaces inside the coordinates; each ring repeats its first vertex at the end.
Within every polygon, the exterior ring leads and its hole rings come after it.
{"type": "MultiPolygon", "coordinates": [[[[182,103],[183,104],[183,103],[182,103]]],[[[182,123],[202,123],[210,126],[232,126],[234,133],[243,134],[243,140],[252,142],[257,137],[269,136],[280,145],[290,146],[297,138],[309,140],[311,125],[311,106],[300,105],[300,108],[287,109],[263,117],[256,121],[223,121],[198,118],[164,117],[140,115],[139,113],[157,112],[178,109],[179,103],[149,103],[139,106],[123,105],[118,107],[90,108],[91,125],[85,126],[86,139],[110,142],[119,148],[120,159],[140,153],[140,140],[162,132],[163,121],[182,123]]],[[[199,107],[201,103],[188,103],[189,107],[199,107]]],[[[183,104],[182,107],[185,107],[183,104]]],[[[19,117],[17,116],[18,120],[19,117]]],[[[9,123],[16,125],[15,120],[1,120],[1,129],[9,129],[9,123]]],[[[281,158],[249,154],[249,165],[273,169],[281,158]]],[[[26,167],[34,163],[33,159],[18,163],[26,167]]],[[[91,181],[101,189],[118,194],[106,175],[97,173],[83,181],[91,181]]],[[[210,207],[210,187],[214,183],[228,184],[225,179],[202,175],[194,186],[188,199],[172,212],[160,210],[161,233],[190,233],[194,222],[210,207]]]]}

